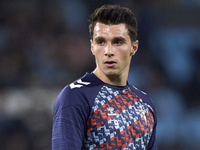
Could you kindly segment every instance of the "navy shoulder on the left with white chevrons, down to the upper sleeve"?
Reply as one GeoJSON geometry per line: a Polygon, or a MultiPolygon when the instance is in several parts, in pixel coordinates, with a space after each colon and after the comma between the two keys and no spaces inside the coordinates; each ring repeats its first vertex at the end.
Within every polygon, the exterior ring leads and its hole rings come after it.
{"type": "Polygon", "coordinates": [[[83,77],[66,85],[59,93],[54,104],[54,111],[66,107],[85,106],[93,104],[93,97],[101,88],[102,83],[92,73],[86,73],[83,77]]]}

